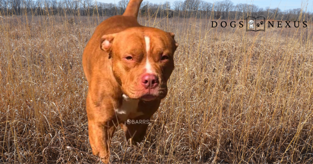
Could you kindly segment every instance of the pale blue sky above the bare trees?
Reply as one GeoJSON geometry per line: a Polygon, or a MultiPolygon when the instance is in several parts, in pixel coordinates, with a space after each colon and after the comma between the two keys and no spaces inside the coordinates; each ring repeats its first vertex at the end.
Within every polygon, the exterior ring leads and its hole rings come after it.
{"type": "MultiPolygon", "coordinates": [[[[117,3],[119,0],[97,0],[97,2],[104,2],[104,3],[117,3]]],[[[160,2],[174,2],[176,0],[144,0],[149,1],[151,3],[160,3],[160,2]]],[[[214,3],[213,0],[204,0],[210,3],[214,3]]],[[[258,5],[261,8],[265,8],[269,6],[270,8],[276,8],[279,7],[281,10],[288,10],[293,8],[301,8],[301,3],[308,4],[307,11],[313,11],[313,0],[231,0],[234,4],[237,3],[248,3],[248,4],[255,4],[258,5]]]]}

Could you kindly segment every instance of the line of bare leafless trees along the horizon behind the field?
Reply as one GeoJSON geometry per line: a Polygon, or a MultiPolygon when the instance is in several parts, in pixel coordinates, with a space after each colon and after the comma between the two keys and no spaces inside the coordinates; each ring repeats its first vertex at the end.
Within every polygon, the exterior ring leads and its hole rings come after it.
{"type": "MultiPolygon", "coordinates": [[[[93,0],[0,0],[1,15],[80,15],[113,16],[123,14],[129,0],[118,3],[101,3],[93,0]]],[[[173,3],[150,3],[144,1],[140,7],[141,16],[150,17],[197,17],[213,19],[244,19],[248,16],[266,19],[296,21],[310,20],[312,12],[301,8],[282,11],[280,8],[260,8],[254,4],[234,4],[230,0],[209,3],[203,0],[174,1],[173,3]]]]}

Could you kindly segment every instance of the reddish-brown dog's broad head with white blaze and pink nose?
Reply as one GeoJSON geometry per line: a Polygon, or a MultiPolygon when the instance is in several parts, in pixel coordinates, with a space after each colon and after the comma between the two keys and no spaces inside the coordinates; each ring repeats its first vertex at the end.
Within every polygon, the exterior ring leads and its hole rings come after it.
{"type": "Polygon", "coordinates": [[[166,96],[177,46],[173,33],[150,27],[104,35],[100,44],[109,53],[114,77],[124,94],[144,101],[166,96]]]}

